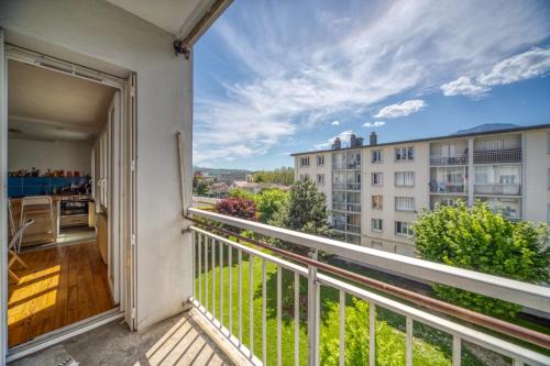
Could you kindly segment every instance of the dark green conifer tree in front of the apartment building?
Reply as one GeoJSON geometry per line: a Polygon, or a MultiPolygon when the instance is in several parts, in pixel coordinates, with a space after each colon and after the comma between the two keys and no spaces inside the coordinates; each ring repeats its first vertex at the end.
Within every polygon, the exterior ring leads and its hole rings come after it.
{"type": "Polygon", "coordinates": [[[324,195],[311,179],[297,181],[290,189],[286,226],[315,235],[331,234],[324,195]]]}

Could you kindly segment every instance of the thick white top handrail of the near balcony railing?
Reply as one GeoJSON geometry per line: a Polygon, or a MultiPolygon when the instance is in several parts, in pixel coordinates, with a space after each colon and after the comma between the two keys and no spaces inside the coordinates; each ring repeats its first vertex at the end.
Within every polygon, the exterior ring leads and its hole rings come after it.
{"type": "Polygon", "coordinates": [[[550,288],[548,287],[411,258],[255,221],[232,218],[211,211],[191,208],[189,209],[189,213],[243,230],[250,230],[262,235],[336,254],[343,258],[353,259],[356,263],[391,269],[394,273],[418,279],[443,284],[543,312],[550,312],[550,288]]]}

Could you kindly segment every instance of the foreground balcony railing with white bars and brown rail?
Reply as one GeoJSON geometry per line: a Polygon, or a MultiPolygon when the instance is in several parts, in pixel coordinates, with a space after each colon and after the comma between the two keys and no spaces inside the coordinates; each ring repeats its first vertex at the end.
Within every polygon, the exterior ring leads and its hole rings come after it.
{"type": "MultiPolygon", "coordinates": [[[[394,273],[428,282],[439,282],[514,302],[542,312],[550,312],[550,289],[547,287],[405,257],[287,229],[226,217],[210,211],[189,209],[189,212],[193,218],[188,219],[196,222],[195,225],[189,228],[194,232],[195,260],[193,270],[196,276],[195,295],[191,302],[210,321],[212,326],[217,328],[253,364],[283,365],[285,356],[283,355],[284,311],[285,323],[288,322],[288,319],[292,319],[290,324],[294,323],[292,328],[294,330],[285,333],[285,339],[294,339],[294,364],[298,365],[300,354],[307,356],[308,365],[320,364],[321,286],[339,292],[338,359],[340,365],[345,363],[346,312],[344,309],[346,296],[353,296],[369,303],[369,321],[365,325],[369,328],[370,336],[364,347],[369,350],[370,365],[376,363],[377,311],[381,310],[396,312],[405,319],[403,333],[405,365],[407,366],[413,365],[415,324],[427,324],[452,337],[450,343],[452,352],[449,355],[449,364],[452,363],[452,365],[461,364],[462,353],[464,347],[468,347],[468,344],[475,344],[504,357],[509,357],[514,365],[550,364],[550,357],[547,355],[534,351],[530,346],[525,346],[525,343],[510,341],[512,336],[531,345],[548,348],[550,347],[550,336],[547,334],[509,324],[502,320],[458,308],[415,291],[384,284],[319,262],[317,260],[317,251],[351,258],[355,263],[387,268],[394,273]],[[200,222],[196,221],[197,219],[200,222]],[[213,225],[208,222],[213,223],[213,225]],[[241,236],[223,229],[220,224],[254,232],[263,237],[273,237],[298,244],[309,248],[309,256],[298,255],[249,236],[241,236]],[[255,247],[258,247],[258,249],[255,247]],[[244,262],[244,258],[246,258],[248,263],[244,262]],[[261,270],[254,267],[255,263],[261,264],[261,270]],[[267,280],[268,266],[272,268],[270,280],[267,280]],[[255,268],[256,270],[254,270],[255,268]],[[318,273],[318,269],[322,270],[322,274],[318,273]],[[292,278],[292,287],[294,287],[289,297],[290,299],[294,298],[294,304],[286,306],[285,309],[283,308],[284,270],[292,273],[287,281],[292,278]],[[254,290],[250,286],[248,291],[243,291],[243,273],[246,274],[248,284],[261,281],[261,290],[254,290]],[[229,278],[224,276],[229,276],[229,278]],[[261,278],[254,278],[255,276],[261,278]],[[224,280],[226,278],[228,280],[224,280]],[[300,280],[304,284],[307,282],[307,297],[301,297],[301,289],[298,285],[300,280]],[[267,286],[268,282],[274,286],[267,286]],[[268,289],[273,293],[267,293],[268,289]],[[370,289],[375,289],[375,292],[370,289]],[[232,296],[228,296],[228,293],[232,296]],[[254,308],[255,297],[260,297],[256,298],[256,303],[260,304],[261,302],[261,307],[254,308]],[[397,301],[396,298],[405,299],[407,303],[397,301]],[[307,304],[301,301],[302,299],[307,299],[307,304]],[[226,301],[229,301],[229,304],[226,301]],[[232,301],[237,301],[238,306],[234,307],[232,301]],[[267,303],[271,307],[270,312],[267,312],[267,303]],[[421,309],[417,308],[417,306],[420,306],[421,309]],[[300,319],[300,312],[304,312],[301,308],[304,307],[307,308],[306,323],[300,319]],[[273,334],[270,333],[270,336],[276,339],[276,341],[270,341],[276,344],[276,353],[272,355],[271,359],[267,358],[267,314],[270,314],[270,324],[273,324],[274,320],[276,323],[276,326],[270,325],[272,326],[271,330],[273,330],[273,334]],[[448,315],[451,315],[451,318],[448,315]],[[244,319],[245,317],[246,319],[244,319]],[[260,321],[260,328],[253,325],[254,319],[260,321]],[[470,325],[466,325],[466,323],[470,325]],[[248,330],[243,328],[245,324],[249,325],[248,330]],[[306,326],[301,326],[302,324],[307,324],[307,332],[304,332],[302,328],[306,326]],[[491,331],[482,331],[480,326],[491,331]],[[246,333],[246,337],[244,333],[246,333]],[[506,334],[506,340],[497,335],[497,333],[506,334]],[[307,337],[307,347],[300,345],[300,336],[307,337]]],[[[285,288],[287,286],[288,284],[285,285],[285,288]]],[[[287,292],[285,297],[288,297],[288,295],[287,292]]],[[[293,345],[285,345],[285,350],[289,348],[292,350],[293,345]]],[[[285,364],[292,364],[292,362],[285,364]]]]}

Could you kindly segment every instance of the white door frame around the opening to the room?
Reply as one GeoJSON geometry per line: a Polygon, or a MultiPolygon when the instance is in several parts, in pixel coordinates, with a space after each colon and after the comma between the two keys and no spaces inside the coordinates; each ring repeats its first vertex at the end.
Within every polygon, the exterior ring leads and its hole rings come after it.
{"type": "MultiPolygon", "coordinates": [[[[70,336],[95,329],[105,323],[105,319],[124,317],[131,329],[135,321],[135,79],[134,73],[129,73],[129,80],[101,73],[99,70],[75,65],[55,57],[35,53],[4,42],[0,30],[0,364],[7,359],[14,361],[28,354],[48,347],[70,336]],[[118,89],[118,117],[113,123],[112,153],[110,167],[112,178],[108,228],[109,241],[118,243],[118,266],[116,266],[118,286],[118,307],[106,313],[98,314],[79,323],[69,324],[59,330],[46,333],[38,340],[33,340],[15,347],[8,347],[8,60],[13,59],[24,64],[42,67],[52,71],[107,85],[118,89]],[[129,85],[132,90],[129,90],[129,85]],[[129,106],[129,103],[131,103],[129,106]],[[124,189],[122,189],[124,187],[124,189]],[[113,314],[114,312],[114,314],[113,314]],[[131,312],[131,314],[129,314],[131,312]],[[63,336],[59,336],[63,334],[63,336]]],[[[111,246],[109,244],[109,246],[111,246]]],[[[114,245],[117,246],[117,245],[114,245]]],[[[114,299],[113,295],[113,299],[114,299]]]]}

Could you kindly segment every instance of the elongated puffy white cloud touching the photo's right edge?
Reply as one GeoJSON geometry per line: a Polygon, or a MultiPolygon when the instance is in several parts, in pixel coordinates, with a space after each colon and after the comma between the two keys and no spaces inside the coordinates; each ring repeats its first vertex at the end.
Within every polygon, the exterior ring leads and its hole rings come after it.
{"type": "Polygon", "coordinates": [[[550,47],[536,47],[528,52],[508,57],[475,80],[461,76],[441,86],[444,96],[466,96],[477,98],[486,95],[492,87],[527,80],[550,70],[550,47]]]}

